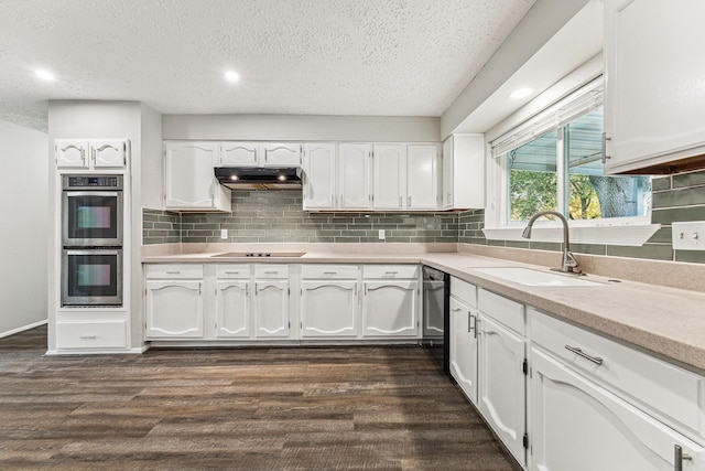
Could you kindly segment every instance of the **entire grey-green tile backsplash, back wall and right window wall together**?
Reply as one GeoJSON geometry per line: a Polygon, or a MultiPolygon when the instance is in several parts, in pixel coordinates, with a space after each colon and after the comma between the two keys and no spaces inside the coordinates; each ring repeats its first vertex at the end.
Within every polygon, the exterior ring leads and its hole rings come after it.
{"type": "MultiPolygon", "coordinates": [[[[674,250],[671,224],[705,221],[705,171],[653,179],[652,222],[661,224],[641,247],[573,244],[578,254],[705,264],[705,251],[674,250]]],[[[465,243],[561,250],[536,240],[488,240],[485,212],[464,213],[307,213],[301,190],[234,191],[232,213],[178,214],[143,210],[144,245],[167,243],[465,243]],[[227,239],[220,229],[228,229],[227,239]]]]}

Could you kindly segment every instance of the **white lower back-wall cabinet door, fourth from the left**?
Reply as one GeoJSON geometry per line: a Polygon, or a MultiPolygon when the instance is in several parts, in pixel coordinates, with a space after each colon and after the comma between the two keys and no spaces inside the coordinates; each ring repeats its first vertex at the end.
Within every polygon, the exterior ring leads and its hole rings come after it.
{"type": "Polygon", "coordinates": [[[301,336],[357,336],[357,281],[302,281],[301,336]]]}

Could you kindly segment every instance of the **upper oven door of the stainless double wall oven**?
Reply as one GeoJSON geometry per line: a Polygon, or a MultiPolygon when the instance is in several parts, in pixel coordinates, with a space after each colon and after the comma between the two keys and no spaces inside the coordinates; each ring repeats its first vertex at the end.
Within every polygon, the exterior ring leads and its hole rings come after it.
{"type": "Polygon", "coordinates": [[[121,191],[64,191],[64,247],[122,245],[121,191]]]}

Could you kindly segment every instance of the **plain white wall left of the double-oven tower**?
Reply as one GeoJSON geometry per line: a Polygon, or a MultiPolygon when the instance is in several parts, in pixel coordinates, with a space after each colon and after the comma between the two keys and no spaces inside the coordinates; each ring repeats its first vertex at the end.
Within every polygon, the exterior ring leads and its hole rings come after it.
{"type": "Polygon", "coordinates": [[[0,336],[44,323],[48,137],[0,121],[0,336]]]}

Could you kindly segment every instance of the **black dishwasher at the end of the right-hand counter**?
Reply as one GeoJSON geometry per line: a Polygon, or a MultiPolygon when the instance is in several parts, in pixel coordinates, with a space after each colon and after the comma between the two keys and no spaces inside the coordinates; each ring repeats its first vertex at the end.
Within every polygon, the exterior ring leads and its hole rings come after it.
{"type": "Polygon", "coordinates": [[[423,266],[422,345],[434,350],[434,357],[448,374],[451,344],[448,341],[451,276],[423,266]]]}

